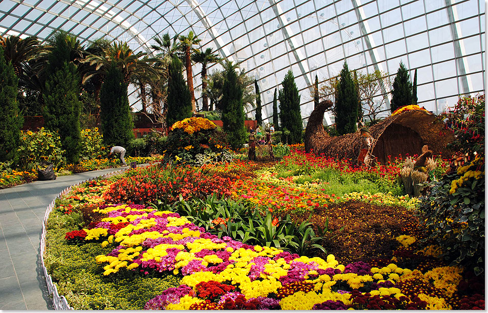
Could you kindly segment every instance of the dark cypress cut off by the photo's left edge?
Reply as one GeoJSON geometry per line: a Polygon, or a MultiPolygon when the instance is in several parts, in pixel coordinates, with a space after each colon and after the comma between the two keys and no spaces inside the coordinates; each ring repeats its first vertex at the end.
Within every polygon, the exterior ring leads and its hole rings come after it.
{"type": "Polygon", "coordinates": [[[24,118],[17,104],[18,78],[0,46],[0,162],[15,160],[24,118]]]}

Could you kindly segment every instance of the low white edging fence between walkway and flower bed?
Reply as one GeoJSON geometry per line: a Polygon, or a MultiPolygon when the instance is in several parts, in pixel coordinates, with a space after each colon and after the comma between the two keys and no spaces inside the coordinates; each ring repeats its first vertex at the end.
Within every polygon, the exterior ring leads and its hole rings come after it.
{"type": "Polygon", "coordinates": [[[58,294],[57,288],[52,282],[51,275],[48,274],[46,266],[44,265],[44,255],[46,253],[47,219],[49,218],[49,214],[51,213],[52,209],[54,208],[54,203],[55,203],[56,199],[68,194],[74,186],[77,186],[77,185],[82,184],[82,183],[89,181],[89,180],[93,180],[95,178],[108,178],[110,176],[121,174],[124,171],[126,171],[126,169],[113,171],[113,172],[107,173],[105,175],[86,179],[86,180],[80,181],[74,185],[71,185],[68,188],[66,188],[65,190],[63,190],[62,192],[60,192],[59,195],[51,201],[51,203],[48,205],[48,207],[46,209],[46,213],[44,214],[44,220],[42,221],[41,266],[42,266],[42,271],[44,272],[44,277],[46,278],[47,290],[49,292],[49,295],[51,296],[52,305],[53,305],[55,310],[72,310],[73,308],[68,304],[68,301],[66,300],[65,296],[60,296],[58,294]]]}

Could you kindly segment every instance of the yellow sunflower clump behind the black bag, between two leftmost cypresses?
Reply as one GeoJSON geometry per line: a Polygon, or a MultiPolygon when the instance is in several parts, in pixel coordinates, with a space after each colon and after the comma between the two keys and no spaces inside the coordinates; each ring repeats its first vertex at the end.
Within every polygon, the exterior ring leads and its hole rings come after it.
{"type": "Polygon", "coordinates": [[[30,171],[43,161],[51,162],[56,170],[66,163],[59,135],[44,128],[38,132],[21,132],[17,153],[19,167],[24,171],[30,171]]]}

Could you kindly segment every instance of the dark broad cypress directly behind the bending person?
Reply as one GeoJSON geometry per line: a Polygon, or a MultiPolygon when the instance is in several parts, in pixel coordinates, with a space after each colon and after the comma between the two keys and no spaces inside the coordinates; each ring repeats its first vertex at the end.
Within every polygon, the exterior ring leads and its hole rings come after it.
{"type": "Polygon", "coordinates": [[[134,122],[129,107],[127,84],[114,62],[108,69],[100,90],[100,115],[103,141],[111,146],[127,147],[134,139],[134,122]]]}

